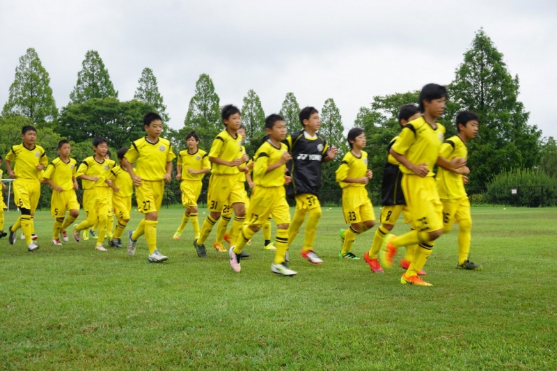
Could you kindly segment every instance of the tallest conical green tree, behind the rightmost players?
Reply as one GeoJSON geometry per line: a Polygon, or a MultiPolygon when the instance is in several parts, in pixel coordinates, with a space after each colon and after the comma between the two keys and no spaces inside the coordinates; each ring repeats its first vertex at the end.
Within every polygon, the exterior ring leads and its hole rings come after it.
{"type": "Polygon", "coordinates": [[[483,186],[493,175],[511,168],[532,168],[540,161],[538,127],[528,125],[529,113],[519,102],[519,78],[512,77],[483,29],[449,86],[447,120],[454,127],[457,111],[469,109],[480,118],[478,138],[469,142],[470,185],[483,186]]]}

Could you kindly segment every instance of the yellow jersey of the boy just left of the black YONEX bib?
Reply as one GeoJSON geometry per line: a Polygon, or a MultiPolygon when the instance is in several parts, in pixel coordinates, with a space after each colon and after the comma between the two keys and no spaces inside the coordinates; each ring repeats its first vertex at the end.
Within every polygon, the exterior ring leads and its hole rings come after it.
{"type": "Polygon", "coordinates": [[[285,164],[269,171],[269,173],[266,172],[267,167],[275,164],[285,152],[288,152],[288,147],[284,143],[281,143],[279,148],[275,147],[270,141],[263,143],[254,156],[253,182],[264,188],[283,186],[285,164]]]}

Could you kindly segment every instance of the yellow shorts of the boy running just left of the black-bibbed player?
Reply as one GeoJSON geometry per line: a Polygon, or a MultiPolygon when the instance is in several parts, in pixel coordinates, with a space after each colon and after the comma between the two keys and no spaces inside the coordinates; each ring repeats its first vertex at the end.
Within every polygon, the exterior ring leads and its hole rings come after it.
{"type": "Polygon", "coordinates": [[[246,224],[261,227],[272,216],[276,224],[290,223],[290,207],[286,191],[281,187],[256,187],[251,191],[246,224]]]}

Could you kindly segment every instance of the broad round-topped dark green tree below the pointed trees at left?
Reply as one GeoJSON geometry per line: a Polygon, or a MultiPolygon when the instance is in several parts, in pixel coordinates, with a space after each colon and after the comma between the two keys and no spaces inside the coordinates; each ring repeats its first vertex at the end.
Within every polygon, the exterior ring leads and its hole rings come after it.
{"type": "Polygon", "coordinates": [[[149,104],[136,100],[120,102],[113,97],[93,98],[65,106],[58,132],[76,143],[104,136],[112,148],[130,146],[132,141],[145,135],[142,119],[153,110],[149,104]]]}

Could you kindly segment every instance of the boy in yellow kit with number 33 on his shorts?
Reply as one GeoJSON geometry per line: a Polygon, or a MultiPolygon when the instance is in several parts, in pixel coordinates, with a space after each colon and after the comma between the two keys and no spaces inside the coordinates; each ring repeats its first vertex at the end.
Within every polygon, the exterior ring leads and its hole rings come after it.
{"type": "Polygon", "coordinates": [[[366,133],[363,129],[350,129],[347,141],[350,152],[344,155],[336,169],[336,182],[343,189],[344,221],[350,224],[350,228],[340,230],[343,249],[338,253],[338,258],[359,260],[350,250],[356,235],[375,226],[375,212],[366,189],[373,173],[368,169],[368,152],[362,150],[366,146],[366,133]]]}

